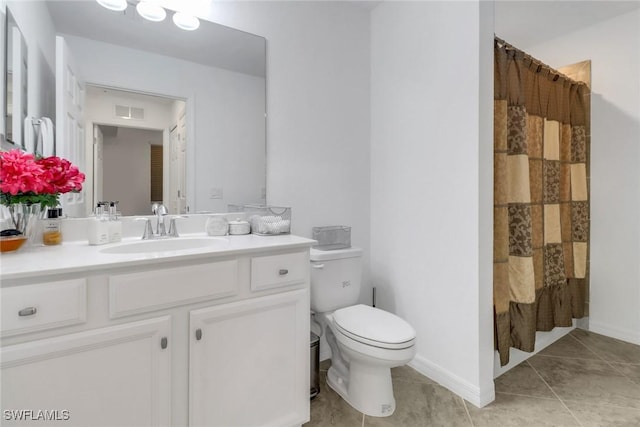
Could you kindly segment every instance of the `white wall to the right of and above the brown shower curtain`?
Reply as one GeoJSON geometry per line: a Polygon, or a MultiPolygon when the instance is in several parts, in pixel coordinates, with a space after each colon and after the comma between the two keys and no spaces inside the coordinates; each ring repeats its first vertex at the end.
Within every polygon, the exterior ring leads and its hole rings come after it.
{"type": "Polygon", "coordinates": [[[640,344],[640,9],[534,46],[510,42],[553,67],[592,61],[589,329],[640,344]]]}

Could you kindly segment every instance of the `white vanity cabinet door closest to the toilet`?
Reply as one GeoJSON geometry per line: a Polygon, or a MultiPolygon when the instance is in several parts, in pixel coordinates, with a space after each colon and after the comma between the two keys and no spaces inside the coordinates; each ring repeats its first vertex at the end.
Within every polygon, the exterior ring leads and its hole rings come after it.
{"type": "Polygon", "coordinates": [[[190,425],[309,419],[307,289],[192,311],[190,332],[190,425]]]}

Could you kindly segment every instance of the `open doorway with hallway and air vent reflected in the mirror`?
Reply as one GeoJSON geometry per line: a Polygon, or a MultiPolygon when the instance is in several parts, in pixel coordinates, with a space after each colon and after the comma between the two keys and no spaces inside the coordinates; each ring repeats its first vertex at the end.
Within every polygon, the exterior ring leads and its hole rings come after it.
{"type": "Polygon", "coordinates": [[[169,213],[186,213],[186,117],[183,100],[87,86],[92,205],[118,200],[122,215],[146,215],[163,203],[169,213]]]}

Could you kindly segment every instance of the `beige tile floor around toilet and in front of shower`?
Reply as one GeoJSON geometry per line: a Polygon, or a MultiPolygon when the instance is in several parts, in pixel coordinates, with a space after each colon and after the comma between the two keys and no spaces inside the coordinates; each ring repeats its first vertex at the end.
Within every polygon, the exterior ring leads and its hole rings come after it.
{"type": "Polygon", "coordinates": [[[305,427],[640,426],[640,346],[576,329],[496,379],[478,409],[408,366],[392,370],[396,411],[366,416],[326,385],[305,427]]]}

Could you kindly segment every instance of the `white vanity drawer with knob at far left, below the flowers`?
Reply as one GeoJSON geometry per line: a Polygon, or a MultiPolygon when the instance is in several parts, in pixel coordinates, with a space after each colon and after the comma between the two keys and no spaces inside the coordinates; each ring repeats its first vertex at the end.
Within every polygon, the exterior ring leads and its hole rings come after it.
{"type": "Polygon", "coordinates": [[[2,336],[84,323],[87,280],[63,280],[0,289],[2,336]]]}

